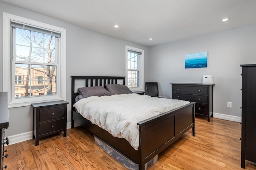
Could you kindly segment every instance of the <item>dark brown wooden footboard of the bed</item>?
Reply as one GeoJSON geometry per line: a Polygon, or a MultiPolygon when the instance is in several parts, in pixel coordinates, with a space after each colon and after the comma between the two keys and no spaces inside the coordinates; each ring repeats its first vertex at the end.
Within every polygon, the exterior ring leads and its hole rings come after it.
{"type": "Polygon", "coordinates": [[[137,123],[140,133],[140,170],[192,127],[195,136],[195,102],[137,123]]]}

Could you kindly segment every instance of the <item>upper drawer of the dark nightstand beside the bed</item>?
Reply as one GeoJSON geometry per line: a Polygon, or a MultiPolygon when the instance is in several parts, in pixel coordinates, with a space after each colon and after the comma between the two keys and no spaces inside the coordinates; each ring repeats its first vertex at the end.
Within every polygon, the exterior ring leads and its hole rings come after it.
{"type": "Polygon", "coordinates": [[[65,106],[40,109],[39,121],[48,121],[65,116],[65,106]]]}

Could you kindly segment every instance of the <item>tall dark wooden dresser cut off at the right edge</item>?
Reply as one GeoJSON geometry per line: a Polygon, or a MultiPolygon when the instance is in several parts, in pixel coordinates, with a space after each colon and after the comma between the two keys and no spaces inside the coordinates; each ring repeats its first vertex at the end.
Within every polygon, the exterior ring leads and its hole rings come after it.
{"type": "Polygon", "coordinates": [[[256,64],[242,67],[241,167],[245,160],[256,163],[256,64]]]}

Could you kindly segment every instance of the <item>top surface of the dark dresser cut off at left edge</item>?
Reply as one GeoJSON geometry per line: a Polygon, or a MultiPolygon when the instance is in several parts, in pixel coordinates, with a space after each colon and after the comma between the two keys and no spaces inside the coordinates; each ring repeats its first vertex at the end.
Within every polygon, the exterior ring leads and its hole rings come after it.
{"type": "Polygon", "coordinates": [[[7,92],[0,92],[0,129],[9,126],[7,92]]]}

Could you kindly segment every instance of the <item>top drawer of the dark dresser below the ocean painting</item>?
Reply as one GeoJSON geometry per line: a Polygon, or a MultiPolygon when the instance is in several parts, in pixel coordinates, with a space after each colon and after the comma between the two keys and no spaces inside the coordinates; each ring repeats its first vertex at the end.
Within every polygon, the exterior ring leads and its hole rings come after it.
{"type": "Polygon", "coordinates": [[[207,95],[207,87],[199,86],[176,86],[172,88],[173,93],[184,93],[184,94],[198,94],[198,95],[207,95]]]}

